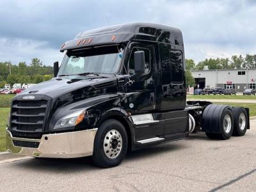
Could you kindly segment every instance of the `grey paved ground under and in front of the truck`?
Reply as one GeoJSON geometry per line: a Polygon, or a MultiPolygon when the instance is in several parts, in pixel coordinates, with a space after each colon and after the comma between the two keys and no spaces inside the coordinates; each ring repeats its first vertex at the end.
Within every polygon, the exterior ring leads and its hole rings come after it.
{"type": "Polygon", "coordinates": [[[0,191],[256,191],[256,120],[246,136],[204,133],[131,152],[101,169],[90,157],[23,159],[0,164],[0,191]]]}

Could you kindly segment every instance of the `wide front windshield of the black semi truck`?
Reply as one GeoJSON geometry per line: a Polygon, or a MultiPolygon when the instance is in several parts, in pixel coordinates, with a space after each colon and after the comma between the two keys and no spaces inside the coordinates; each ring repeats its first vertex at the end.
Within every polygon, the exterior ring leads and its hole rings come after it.
{"type": "Polygon", "coordinates": [[[69,51],[61,63],[59,76],[77,74],[115,74],[122,61],[120,45],[69,51]]]}

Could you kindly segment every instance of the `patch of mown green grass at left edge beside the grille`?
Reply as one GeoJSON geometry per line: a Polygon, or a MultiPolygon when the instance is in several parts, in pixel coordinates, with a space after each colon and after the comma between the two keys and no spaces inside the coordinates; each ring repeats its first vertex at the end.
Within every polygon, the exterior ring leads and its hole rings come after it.
{"type": "Polygon", "coordinates": [[[5,128],[6,120],[10,113],[10,108],[0,108],[0,152],[6,150],[5,147],[5,128]]]}

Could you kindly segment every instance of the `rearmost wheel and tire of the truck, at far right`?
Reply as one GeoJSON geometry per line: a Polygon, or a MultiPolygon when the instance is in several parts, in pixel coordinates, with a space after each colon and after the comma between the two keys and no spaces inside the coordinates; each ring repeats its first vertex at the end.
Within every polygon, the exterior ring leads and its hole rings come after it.
{"type": "Polygon", "coordinates": [[[244,136],[248,128],[248,116],[244,108],[232,108],[234,116],[234,136],[244,136]]]}

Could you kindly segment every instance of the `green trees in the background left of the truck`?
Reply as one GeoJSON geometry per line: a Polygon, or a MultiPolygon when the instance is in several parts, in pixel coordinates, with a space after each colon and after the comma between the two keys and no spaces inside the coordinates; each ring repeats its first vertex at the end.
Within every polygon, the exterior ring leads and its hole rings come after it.
{"type": "Polygon", "coordinates": [[[33,58],[29,65],[19,62],[13,65],[10,61],[0,62],[0,88],[4,84],[41,83],[53,77],[53,67],[43,65],[38,58],[33,58]]]}

